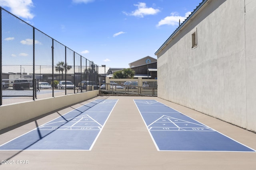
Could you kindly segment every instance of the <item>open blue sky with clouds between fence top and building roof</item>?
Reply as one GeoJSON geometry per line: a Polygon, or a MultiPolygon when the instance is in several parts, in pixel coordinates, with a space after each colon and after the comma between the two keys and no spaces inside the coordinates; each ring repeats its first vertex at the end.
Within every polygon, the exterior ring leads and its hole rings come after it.
{"type": "Polygon", "coordinates": [[[0,0],[95,64],[128,68],[156,50],[202,0],[0,0]]]}

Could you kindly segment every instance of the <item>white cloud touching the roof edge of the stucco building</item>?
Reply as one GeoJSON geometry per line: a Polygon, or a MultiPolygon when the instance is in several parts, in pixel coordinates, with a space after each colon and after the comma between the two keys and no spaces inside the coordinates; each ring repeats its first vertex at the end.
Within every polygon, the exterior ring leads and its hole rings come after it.
{"type": "Polygon", "coordinates": [[[167,16],[166,18],[162,19],[156,26],[159,27],[161,25],[179,25],[179,20],[180,23],[184,22],[190,14],[191,12],[186,12],[185,16],[179,16],[177,12],[172,12],[171,16],[167,16]]]}

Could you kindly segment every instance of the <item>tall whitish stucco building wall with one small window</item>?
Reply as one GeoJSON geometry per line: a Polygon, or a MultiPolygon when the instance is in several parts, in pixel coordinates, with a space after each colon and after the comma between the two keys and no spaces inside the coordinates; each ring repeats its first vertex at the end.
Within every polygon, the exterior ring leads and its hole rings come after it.
{"type": "Polygon", "coordinates": [[[158,97],[256,131],[255,7],[255,0],[204,4],[157,53],[158,97]]]}

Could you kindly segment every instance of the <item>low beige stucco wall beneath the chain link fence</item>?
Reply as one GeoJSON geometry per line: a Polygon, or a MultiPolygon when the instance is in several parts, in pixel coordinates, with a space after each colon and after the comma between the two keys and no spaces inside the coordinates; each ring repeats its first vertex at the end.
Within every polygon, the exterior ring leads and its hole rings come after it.
{"type": "Polygon", "coordinates": [[[76,93],[54,98],[0,106],[0,130],[49,113],[56,109],[94,98],[99,90],[76,93]]]}

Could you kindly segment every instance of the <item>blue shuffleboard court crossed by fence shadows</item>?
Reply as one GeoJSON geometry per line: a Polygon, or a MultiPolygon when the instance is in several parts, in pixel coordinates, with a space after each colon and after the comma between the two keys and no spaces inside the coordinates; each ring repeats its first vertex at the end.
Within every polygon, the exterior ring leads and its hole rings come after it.
{"type": "Polygon", "coordinates": [[[0,146],[0,150],[91,150],[118,100],[94,100],[0,146]]]}

